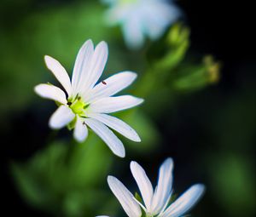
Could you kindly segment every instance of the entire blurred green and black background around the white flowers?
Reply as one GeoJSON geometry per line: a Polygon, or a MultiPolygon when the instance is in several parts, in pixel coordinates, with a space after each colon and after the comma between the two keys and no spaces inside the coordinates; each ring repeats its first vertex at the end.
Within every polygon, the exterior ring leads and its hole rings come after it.
{"type": "MultiPolygon", "coordinates": [[[[0,3],[1,187],[8,216],[125,216],[107,175],[137,191],[129,163],[152,180],[173,157],[174,189],[207,186],[192,216],[255,214],[256,63],[247,3],[179,0],[180,19],[159,40],[129,49],[108,8],[91,0],[2,0],[0,3]],[[55,104],[33,87],[55,83],[44,66],[49,54],[67,68],[88,38],[108,42],[104,77],[139,74],[125,93],[143,106],[117,115],[137,129],[140,144],[125,140],[126,157],[113,156],[90,132],[76,144],[67,129],[48,127],[55,104]]],[[[6,216],[3,214],[3,216],[6,216]]]]}

